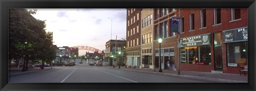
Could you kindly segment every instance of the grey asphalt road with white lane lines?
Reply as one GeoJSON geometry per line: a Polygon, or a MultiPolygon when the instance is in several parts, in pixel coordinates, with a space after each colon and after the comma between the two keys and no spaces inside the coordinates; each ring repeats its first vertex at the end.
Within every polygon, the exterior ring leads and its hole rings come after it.
{"type": "Polygon", "coordinates": [[[165,76],[155,73],[135,72],[77,63],[74,67],[9,76],[9,82],[213,82],[185,77],[165,76]]]}

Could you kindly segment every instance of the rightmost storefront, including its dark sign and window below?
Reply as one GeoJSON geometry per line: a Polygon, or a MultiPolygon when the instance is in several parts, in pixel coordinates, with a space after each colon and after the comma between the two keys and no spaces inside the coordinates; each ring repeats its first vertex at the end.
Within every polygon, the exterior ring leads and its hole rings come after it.
{"type": "Polygon", "coordinates": [[[238,73],[241,67],[247,65],[247,27],[223,31],[223,43],[226,44],[228,73],[238,73]],[[237,72],[230,72],[237,70],[237,72]]]}

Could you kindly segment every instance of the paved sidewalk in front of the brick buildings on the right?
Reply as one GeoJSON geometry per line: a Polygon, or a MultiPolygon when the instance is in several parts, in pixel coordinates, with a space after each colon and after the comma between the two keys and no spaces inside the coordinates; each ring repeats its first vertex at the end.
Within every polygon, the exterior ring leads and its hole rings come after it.
{"type": "MultiPolygon", "coordinates": [[[[108,66],[109,68],[113,68],[108,66]]],[[[118,69],[118,67],[114,68],[118,69]]],[[[138,72],[148,72],[148,73],[158,73],[161,75],[170,75],[170,76],[177,76],[177,77],[187,77],[192,79],[204,79],[204,80],[212,80],[212,81],[221,81],[221,82],[248,82],[248,76],[244,76],[240,74],[230,74],[230,73],[213,73],[213,72],[196,72],[196,71],[180,71],[180,75],[178,75],[178,71],[174,70],[164,70],[162,69],[162,73],[158,72],[159,69],[156,68],[155,72],[154,69],[148,68],[125,68],[120,67],[119,70],[130,70],[130,71],[138,71],[138,72]]]]}

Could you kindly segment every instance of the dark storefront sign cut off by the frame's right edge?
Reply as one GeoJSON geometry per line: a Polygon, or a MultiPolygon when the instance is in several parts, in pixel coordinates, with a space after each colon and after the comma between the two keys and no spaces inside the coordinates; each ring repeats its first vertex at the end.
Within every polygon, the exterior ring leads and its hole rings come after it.
{"type": "Polygon", "coordinates": [[[248,27],[223,31],[224,43],[247,41],[248,27]]]}

